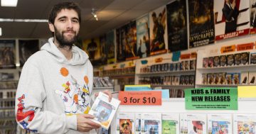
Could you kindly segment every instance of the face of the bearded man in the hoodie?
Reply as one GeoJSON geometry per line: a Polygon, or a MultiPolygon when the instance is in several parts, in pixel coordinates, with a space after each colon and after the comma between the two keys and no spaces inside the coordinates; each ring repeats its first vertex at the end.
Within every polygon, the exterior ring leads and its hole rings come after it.
{"type": "Polygon", "coordinates": [[[49,24],[55,40],[60,47],[72,46],[78,38],[80,23],[78,13],[73,9],[62,9],[56,16],[54,24],[49,24]]]}

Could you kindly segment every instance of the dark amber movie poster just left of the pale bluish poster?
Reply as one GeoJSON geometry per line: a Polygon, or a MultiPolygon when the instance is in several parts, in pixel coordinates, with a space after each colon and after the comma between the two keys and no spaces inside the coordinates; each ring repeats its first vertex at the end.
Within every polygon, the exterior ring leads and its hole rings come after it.
{"type": "Polygon", "coordinates": [[[137,56],[137,32],[136,23],[132,21],[117,31],[117,61],[134,60],[137,56]]]}

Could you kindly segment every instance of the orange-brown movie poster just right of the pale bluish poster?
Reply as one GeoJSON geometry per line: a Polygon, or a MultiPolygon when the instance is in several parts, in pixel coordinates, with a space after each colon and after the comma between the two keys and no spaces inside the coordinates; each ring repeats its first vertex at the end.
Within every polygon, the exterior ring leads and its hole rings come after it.
{"type": "Polygon", "coordinates": [[[167,52],[166,7],[149,13],[150,55],[167,52]]]}

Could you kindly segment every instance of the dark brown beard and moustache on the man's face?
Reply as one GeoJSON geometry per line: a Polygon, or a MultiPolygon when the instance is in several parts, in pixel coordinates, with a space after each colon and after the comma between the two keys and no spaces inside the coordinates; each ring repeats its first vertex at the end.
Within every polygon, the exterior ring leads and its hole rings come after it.
{"type": "Polygon", "coordinates": [[[65,46],[72,48],[73,44],[78,40],[78,35],[73,30],[72,31],[75,33],[75,35],[73,36],[73,38],[70,38],[70,39],[64,36],[64,33],[66,30],[60,32],[60,30],[58,30],[55,26],[54,26],[54,30],[55,30],[54,35],[55,35],[56,41],[58,41],[59,43],[60,48],[64,48],[65,46]]]}

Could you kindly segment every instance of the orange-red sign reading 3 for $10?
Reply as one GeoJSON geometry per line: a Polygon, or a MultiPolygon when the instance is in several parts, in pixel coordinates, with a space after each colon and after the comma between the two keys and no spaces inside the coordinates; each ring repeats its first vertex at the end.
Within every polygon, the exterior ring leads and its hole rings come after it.
{"type": "Polygon", "coordinates": [[[161,91],[119,91],[121,105],[161,105],[161,91]]]}

